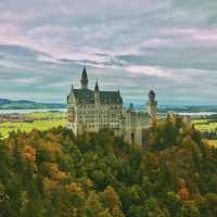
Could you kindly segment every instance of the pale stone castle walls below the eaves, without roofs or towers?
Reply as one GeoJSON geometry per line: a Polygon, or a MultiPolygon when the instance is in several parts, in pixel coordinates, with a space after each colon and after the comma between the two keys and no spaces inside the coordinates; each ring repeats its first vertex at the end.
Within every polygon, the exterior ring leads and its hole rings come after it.
{"type": "Polygon", "coordinates": [[[68,124],[75,136],[112,129],[127,142],[142,144],[142,131],[150,127],[148,113],[127,111],[117,104],[73,103],[68,108],[68,124]]]}

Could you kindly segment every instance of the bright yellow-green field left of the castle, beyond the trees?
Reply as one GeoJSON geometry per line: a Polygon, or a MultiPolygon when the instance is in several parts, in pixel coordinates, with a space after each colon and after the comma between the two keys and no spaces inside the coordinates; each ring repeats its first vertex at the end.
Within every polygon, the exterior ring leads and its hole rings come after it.
{"type": "Polygon", "coordinates": [[[33,129],[47,130],[52,127],[65,126],[65,113],[62,112],[43,112],[29,113],[26,116],[36,118],[33,123],[3,123],[0,124],[0,133],[3,138],[9,136],[10,131],[30,131],[33,129]],[[40,118],[40,119],[39,119],[40,118]]]}

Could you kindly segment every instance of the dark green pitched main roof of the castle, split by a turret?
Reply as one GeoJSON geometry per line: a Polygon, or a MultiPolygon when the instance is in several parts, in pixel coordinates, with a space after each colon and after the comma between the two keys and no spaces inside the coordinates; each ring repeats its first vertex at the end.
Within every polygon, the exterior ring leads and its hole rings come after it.
{"type": "MultiPolygon", "coordinates": [[[[94,103],[94,91],[89,89],[73,89],[75,99],[78,102],[94,103]]],[[[101,104],[122,104],[119,91],[99,91],[101,104]]]]}

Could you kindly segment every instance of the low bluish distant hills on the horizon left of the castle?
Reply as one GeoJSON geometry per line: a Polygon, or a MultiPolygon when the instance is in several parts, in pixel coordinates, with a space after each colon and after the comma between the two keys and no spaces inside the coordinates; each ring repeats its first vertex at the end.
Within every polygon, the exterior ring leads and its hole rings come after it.
{"type": "Polygon", "coordinates": [[[65,108],[63,103],[39,103],[27,100],[0,99],[0,110],[65,108]]]}

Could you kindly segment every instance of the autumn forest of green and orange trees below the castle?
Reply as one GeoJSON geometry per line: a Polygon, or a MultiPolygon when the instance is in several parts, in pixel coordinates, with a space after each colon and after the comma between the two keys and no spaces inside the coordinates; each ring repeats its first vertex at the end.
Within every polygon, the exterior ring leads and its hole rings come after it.
{"type": "Polygon", "coordinates": [[[0,140],[1,217],[215,217],[217,150],[181,118],[145,148],[56,127],[0,140]]]}

